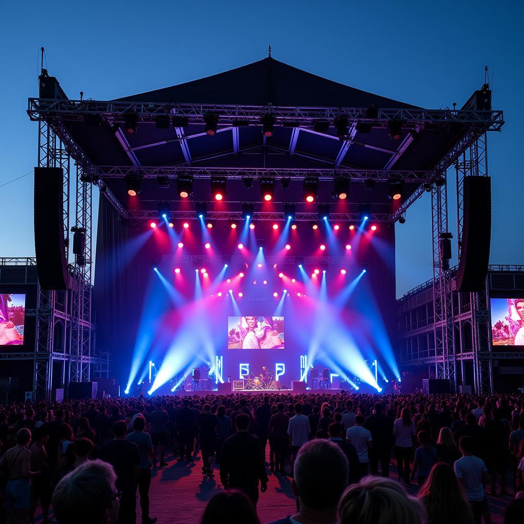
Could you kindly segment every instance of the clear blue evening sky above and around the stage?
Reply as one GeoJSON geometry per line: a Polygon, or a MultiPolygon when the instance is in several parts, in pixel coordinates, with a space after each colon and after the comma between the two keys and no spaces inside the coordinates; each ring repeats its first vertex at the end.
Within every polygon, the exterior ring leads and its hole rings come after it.
{"type": "MultiPolygon", "coordinates": [[[[25,110],[27,97],[38,95],[41,46],[49,73],[69,97],[83,91],[99,100],[254,62],[267,55],[268,44],[274,58],[300,69],[429,108],[453,102],[460,107],[481,87],[488,65],[493,105],[504,110],[507,122],[502,133],[489,135],[491,261],[524,263],[521,1],[57,0],[37,10],[35,5],[22,0],[3,7],[0,185],[31,173],[36,162],[37,125],[25,110]]],[[[449,182],[452,202],[454,180],[449,182]]],[[[0,187],[0,256],[34,255],[32,191],[31,174],[0,187]]],[[[453,224],[453,210],[450,217],[453,224]]],[[[397,295],[431,275],[430,198],[424,195],[408,211],[407,223],[397,224],[397,295]]]]}

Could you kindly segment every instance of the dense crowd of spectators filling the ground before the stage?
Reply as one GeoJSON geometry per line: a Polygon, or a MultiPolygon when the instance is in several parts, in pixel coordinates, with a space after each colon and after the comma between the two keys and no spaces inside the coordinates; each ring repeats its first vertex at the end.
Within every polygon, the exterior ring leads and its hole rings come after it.
{"type": "Polygon", "coordinates": [[[151,468],[198,454],[224,488],[202,524],[259,523],[268,474],[289,476],[296,497],[278,524],[490,524],[486,493],[505,501],[507,524],[522,522],[523,402],[280,391],[13,402],[0,406],[0,522],[32,522],[38,508],[44,524],[135,524],[138,499],[154,524],[151,468]]]}

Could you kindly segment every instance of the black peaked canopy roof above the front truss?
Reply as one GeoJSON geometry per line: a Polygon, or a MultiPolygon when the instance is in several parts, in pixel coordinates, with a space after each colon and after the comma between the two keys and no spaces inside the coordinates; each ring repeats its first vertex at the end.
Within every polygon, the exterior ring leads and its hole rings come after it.
{"type": "Polygon", "coordinates": [[[117,100],[288,107],[413,108],[416,106],[333,82],[268,57],[211,77],[117,100]]]}

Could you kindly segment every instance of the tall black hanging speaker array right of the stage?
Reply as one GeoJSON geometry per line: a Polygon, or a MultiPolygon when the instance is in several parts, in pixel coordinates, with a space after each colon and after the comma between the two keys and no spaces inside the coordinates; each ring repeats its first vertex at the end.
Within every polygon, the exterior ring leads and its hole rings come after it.
{"type": "Polygon", "coordinates": [[[460,292],[483,291],[491,241],[491,179],[464,177],[464,220],[457,271],[460,292]]]}

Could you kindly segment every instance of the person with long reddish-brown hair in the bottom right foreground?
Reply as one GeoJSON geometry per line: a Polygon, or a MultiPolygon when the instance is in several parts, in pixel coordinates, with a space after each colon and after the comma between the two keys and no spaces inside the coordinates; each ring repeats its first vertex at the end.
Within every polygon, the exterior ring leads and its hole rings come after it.
{"type": "Polygon", "coordinates": [[[418,498],[428,514],[427,524],[467,524],[473,520],[470,504],[449,464],[438,462],[431,468],[418,498]]]}

